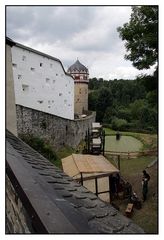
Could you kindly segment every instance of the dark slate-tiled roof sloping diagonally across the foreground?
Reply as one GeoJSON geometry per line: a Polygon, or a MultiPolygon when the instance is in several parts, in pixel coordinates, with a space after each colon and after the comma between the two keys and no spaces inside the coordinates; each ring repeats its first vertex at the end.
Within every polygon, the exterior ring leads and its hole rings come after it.
{"type": "MultiPolygon", "coordinates": [[[[27,211],[30,214],[33,209],[44,226],[44,230],[38,232],[144,233],[131,219],[101,201],[8,131],[6,167],[8,176],[20,188],[27,211]]],[[[37,229],[37,224],[35,226],[37,229]]]]}

